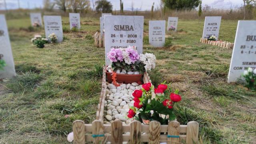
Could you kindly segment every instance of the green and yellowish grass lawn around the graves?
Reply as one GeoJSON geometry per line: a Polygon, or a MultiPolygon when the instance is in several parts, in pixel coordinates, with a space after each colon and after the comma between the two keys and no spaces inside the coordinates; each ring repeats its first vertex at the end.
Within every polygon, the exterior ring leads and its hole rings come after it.
{"type": "MultiPolygon", "coordinates": [[[[62,21],[69,28],[68,18],[62,21]]],[[[0,143],[68,143],[74,120],[96,118],[105,53],[93,45],[99,18],[81,22],[80,32],[64,32],[62,43],[39,49],[30,39],[44,35],[43,29],[29,32],[28,18],[8,20],[18,76],[0,82],[0,143]]],[[[203,20],[179,20],[167,48],[148,44],[145,25],[144,52],[157,58],[152,82],[166,80],[181,91],[177,119],[200,123],[200,143],[255,143],[256,93],[226,82],[232,50],[201,44],[203,25],[203,20]]],[[[237,21],[222,20],[219,38],[234,42],[236,26],[237,21]]]]}

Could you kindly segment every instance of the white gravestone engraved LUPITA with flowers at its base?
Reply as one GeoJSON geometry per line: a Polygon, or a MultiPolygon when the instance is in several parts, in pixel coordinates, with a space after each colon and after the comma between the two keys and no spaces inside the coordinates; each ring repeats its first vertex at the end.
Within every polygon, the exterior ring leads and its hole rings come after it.
{"type": "MultiPolygon", "coordinates": [[[[50,34],[54,33],[58,37],[57,42],[62,42],[63,32],[61,16],[44,16],[44,30],[46,38],[48,38],[50,34]]],[[[48,38],[48,40],[50,39],[48,38]]]]}

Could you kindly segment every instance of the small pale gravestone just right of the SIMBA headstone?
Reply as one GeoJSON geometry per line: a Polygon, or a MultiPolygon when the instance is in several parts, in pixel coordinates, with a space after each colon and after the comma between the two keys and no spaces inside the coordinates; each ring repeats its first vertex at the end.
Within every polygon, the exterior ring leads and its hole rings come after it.
{"type": "Polygon", "coordinates": [[[162,47],[165,42],[165,20],[149,21],[149,43],[154,47],[162,47]]]}

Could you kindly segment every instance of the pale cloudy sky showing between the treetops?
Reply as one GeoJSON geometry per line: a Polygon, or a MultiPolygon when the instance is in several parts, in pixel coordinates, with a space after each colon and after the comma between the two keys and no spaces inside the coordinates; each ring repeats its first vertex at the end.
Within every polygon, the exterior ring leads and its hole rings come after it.
{"type": "MultiPolygon", "coordinates": [[[[16,9],[18,8],[18,1],[20,2],[21,8],[42,8],[43,0],[6,0],[8,9],[16,9]]],[[[90,0],[91,7],[92,1],[90,0]]],[[[108,0],[113,5],[113,10],[120,10],[120,0],[108,0]]],[[[132,3],[134,4],[134,10],[138,8],[138,10],[150,10],[153,2],[155,2],[155,8],[159,7],[160,0],[122,0],[124,2],[124,10],[131,10],[132,3]]],[[[232,8],[236,8],[241,6],[243,3],[242,0],[202,0],[202,6],[208,5],[213,8],[224,8],[229,9],[230,6],[232,8]]],[[[4,10],[4,0],[0,0],[0,10],[4,10]]]]}

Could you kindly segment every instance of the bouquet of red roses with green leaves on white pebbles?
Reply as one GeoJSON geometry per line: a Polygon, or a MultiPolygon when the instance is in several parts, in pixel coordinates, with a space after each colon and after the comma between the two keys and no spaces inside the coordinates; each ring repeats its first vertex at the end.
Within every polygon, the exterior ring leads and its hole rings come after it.
{"type": "Polygon", "coordinates": [[[134,106],[128,112],[128,117],[135,117],[140,122],[148,123],[152,120],[157,120],[161,124],[168,124],[168,121],[175,120],[173,106],[181,100],[178,95],[179,91],[172,92],[167,84],[160,84],[157,88],[151,83],[143,84],[142,90],[134,90],[134,106]],[[155,92],[156,97],[152,98],[152,92],[155,92]],[[161,115],[164,115],[162,118],[161,115]]]}

